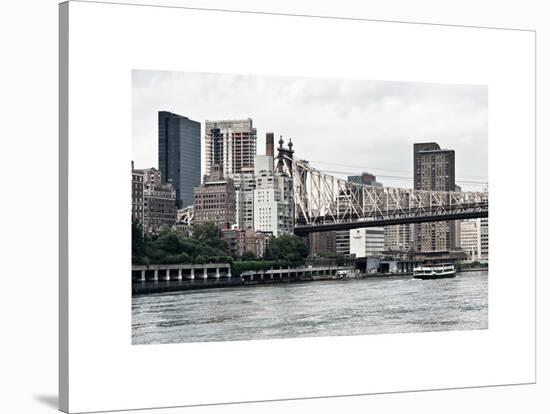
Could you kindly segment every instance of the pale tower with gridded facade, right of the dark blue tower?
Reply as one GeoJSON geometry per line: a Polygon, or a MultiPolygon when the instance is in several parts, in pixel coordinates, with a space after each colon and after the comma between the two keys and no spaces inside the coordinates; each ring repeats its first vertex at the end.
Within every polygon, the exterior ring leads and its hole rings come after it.
{"type": "Polygon", "coordinates": [[[221,165],[226,176],[254,168],[256,128],[252,119],[206,121],[204,139],[205,175],[211,174],[214,165],[221,165]]]}

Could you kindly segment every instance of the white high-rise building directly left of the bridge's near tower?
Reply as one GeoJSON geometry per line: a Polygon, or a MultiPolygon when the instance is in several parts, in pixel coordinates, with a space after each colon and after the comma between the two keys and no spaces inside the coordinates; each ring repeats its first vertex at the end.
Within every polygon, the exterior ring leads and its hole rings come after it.
{"type": "Polygon", "coordinates": [[[273,157],[256,156],[254,161],[254,230],[275,237],[294,230],[292,178],[273,171],[273,157]]]}

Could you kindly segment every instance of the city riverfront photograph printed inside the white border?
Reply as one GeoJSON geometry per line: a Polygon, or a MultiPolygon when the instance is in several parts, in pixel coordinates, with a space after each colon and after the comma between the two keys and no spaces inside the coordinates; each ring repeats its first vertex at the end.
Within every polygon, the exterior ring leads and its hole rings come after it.
{"type": "Polygon", "coordinates": [[[134,70],[127,162],[134,345],[488,328],[486,85],[134,70]]]}

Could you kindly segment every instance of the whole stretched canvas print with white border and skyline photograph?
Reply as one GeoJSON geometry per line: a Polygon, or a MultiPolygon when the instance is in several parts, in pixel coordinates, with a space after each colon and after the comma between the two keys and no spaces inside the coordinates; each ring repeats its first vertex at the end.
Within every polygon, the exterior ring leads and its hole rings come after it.
{"type": "Polygon", "coordinates": [[[536,381],[535,33],[364,17],[60,5],[63,411],[536,381]]]}

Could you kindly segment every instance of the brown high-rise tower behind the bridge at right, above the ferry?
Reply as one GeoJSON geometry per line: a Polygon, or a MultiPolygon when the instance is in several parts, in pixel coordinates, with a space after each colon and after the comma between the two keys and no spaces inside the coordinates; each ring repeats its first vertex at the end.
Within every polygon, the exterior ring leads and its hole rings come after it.
{"type": "MultiPolygon", "coordinates": [[[[455,191],[455,152],[435,142],[414,144],[414,189],[455,191]]],[[[456,248],[456,226],[452,221],[415,225],[416,248],[422,252],[456,248]]]]}

